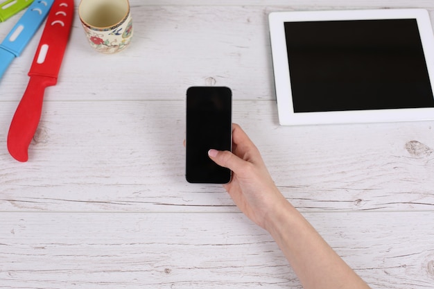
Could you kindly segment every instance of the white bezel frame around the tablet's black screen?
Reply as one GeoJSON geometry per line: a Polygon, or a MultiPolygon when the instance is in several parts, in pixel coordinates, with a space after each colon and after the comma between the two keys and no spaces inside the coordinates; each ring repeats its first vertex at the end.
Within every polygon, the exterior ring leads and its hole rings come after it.
{"type": "Polygon", "coordinates": [[[333,21],[363,19],[416,19],[434,89],[434,35],[430,17],[424,9],[334,10],[271,12],[269,15],[272,64],[275,74],[277,109],[281,125],[331,123],[377,123],[426,121],[434,119],[434,108],[399,110],[356,110],[346,112],[297,112],[293,110],[284,23],[291,21],[333,21]]]}

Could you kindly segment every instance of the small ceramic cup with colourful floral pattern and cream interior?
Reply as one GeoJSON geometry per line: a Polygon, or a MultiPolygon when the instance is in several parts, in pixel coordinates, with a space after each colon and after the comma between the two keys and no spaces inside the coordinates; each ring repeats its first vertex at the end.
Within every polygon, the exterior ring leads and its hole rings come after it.
{"type": "Polygon", "coordinates": [[[78,15],[96,51],[116,53],[130,44],[132,18],[128,0],[81,0],[78,15]]]}

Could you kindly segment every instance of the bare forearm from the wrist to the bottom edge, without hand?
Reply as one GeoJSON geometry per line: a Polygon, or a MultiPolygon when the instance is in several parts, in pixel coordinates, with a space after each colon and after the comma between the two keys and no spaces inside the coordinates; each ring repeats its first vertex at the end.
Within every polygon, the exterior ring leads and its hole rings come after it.
{"type": "Polygon", "coordinates": [[[289,202],[270,213],[266,229],[305,289],[369,288],[289,202]]]}

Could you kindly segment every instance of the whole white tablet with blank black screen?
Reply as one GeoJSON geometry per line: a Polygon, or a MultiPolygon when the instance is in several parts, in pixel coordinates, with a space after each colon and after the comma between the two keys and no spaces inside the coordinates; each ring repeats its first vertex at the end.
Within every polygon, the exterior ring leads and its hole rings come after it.
{"type": "Polygon", "coordinates": [[[272,12],[279,123],[434,119],[434,35],[424,9],[272,12]]]}

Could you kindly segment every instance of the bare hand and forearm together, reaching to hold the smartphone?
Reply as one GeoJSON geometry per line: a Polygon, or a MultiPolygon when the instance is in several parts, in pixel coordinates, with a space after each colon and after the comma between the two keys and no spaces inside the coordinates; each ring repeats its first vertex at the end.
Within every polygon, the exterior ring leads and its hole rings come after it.
{"type": "Polygon", "coordinates": [[[370,288],[281,194],[261,154],[239,125],[232,125],[232,152],[209,157],[232,170],[224,188],[250,220],[266,229],[305,289],[370,288]]]}

